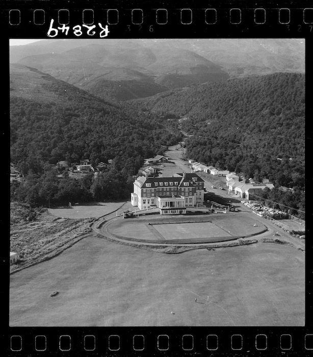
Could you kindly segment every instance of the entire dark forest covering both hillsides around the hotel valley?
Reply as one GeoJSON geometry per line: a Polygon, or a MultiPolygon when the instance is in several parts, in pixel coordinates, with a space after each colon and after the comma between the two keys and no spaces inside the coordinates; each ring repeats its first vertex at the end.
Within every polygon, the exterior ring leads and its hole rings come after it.
{"type": "Polygon", "coordinates": [[[181,141],[181,129],[188,135],[189,158],[293,188],[292,196],[273,191],[266,198],[304,211],[304,79],[274,73],[122,102],[16,66],[10,83],[11,162],[24,180],[11,185],[12,199],[39,206],[47,200],[128,197],[143,159],[181,141]],[[113,162],[96,179],[56,176],[58,161],[75,165],[81,159],[94,166],[113,162]]]}

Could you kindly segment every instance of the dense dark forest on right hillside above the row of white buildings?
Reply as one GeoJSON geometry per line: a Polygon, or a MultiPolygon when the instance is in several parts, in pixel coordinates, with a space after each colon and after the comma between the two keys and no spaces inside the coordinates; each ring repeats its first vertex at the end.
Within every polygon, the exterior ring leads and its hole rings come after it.
{"type": "Polygon", "coordinates": [[[189,158],[257,182],[269,179],[275,187],[293,188],[292,207],[303,209],[304,79],[296,73],[252,76],[193,85],[132,103],[179,116],[182,131],[189,134],[189,158]]]}

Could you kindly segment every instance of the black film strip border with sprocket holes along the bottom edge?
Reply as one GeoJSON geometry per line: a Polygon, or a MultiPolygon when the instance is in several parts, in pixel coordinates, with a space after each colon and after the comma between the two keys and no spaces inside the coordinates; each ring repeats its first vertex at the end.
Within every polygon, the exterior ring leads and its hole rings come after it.
{"type": "MultiPolygon", "coordinates": [[[[277,330],[278,331],[278,330],[277,330]]],[[[158,352],[166,352],[166,355],[174,353],[195,354],[210,352],[295,352],[313,351],[313,334],[295,333],[270,333],[239,334],[224,331],[217,334],[106,334],[103,332],[57,334],[51,332],[45,334],[14,335],[9,337],[6,344],[10,355],[19,353],[49,352],[62,354],[62,352],[94,352],[114,355],[136,354],[142,355],[158,352]],[[245,336],[246,335],[246,336],[245,336]]]]}

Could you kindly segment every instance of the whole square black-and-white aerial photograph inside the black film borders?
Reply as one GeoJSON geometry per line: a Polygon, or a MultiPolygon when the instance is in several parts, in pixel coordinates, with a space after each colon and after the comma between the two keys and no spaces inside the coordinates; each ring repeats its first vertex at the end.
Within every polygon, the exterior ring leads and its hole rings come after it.
{"type": "Polygon", "coordinates": [[[10,39],[10,327],[304,326],[305,41],[10,39]]]}

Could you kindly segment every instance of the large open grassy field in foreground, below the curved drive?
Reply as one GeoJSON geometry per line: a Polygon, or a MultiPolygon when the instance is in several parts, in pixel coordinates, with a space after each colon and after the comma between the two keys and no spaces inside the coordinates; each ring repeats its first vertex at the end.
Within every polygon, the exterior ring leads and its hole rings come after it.
{"type": "Polygon", "coordinates": [[[303,325],[304,288],[286,245],[161,254],[90,236],[11,275],[10,326],[303,325]]]}

